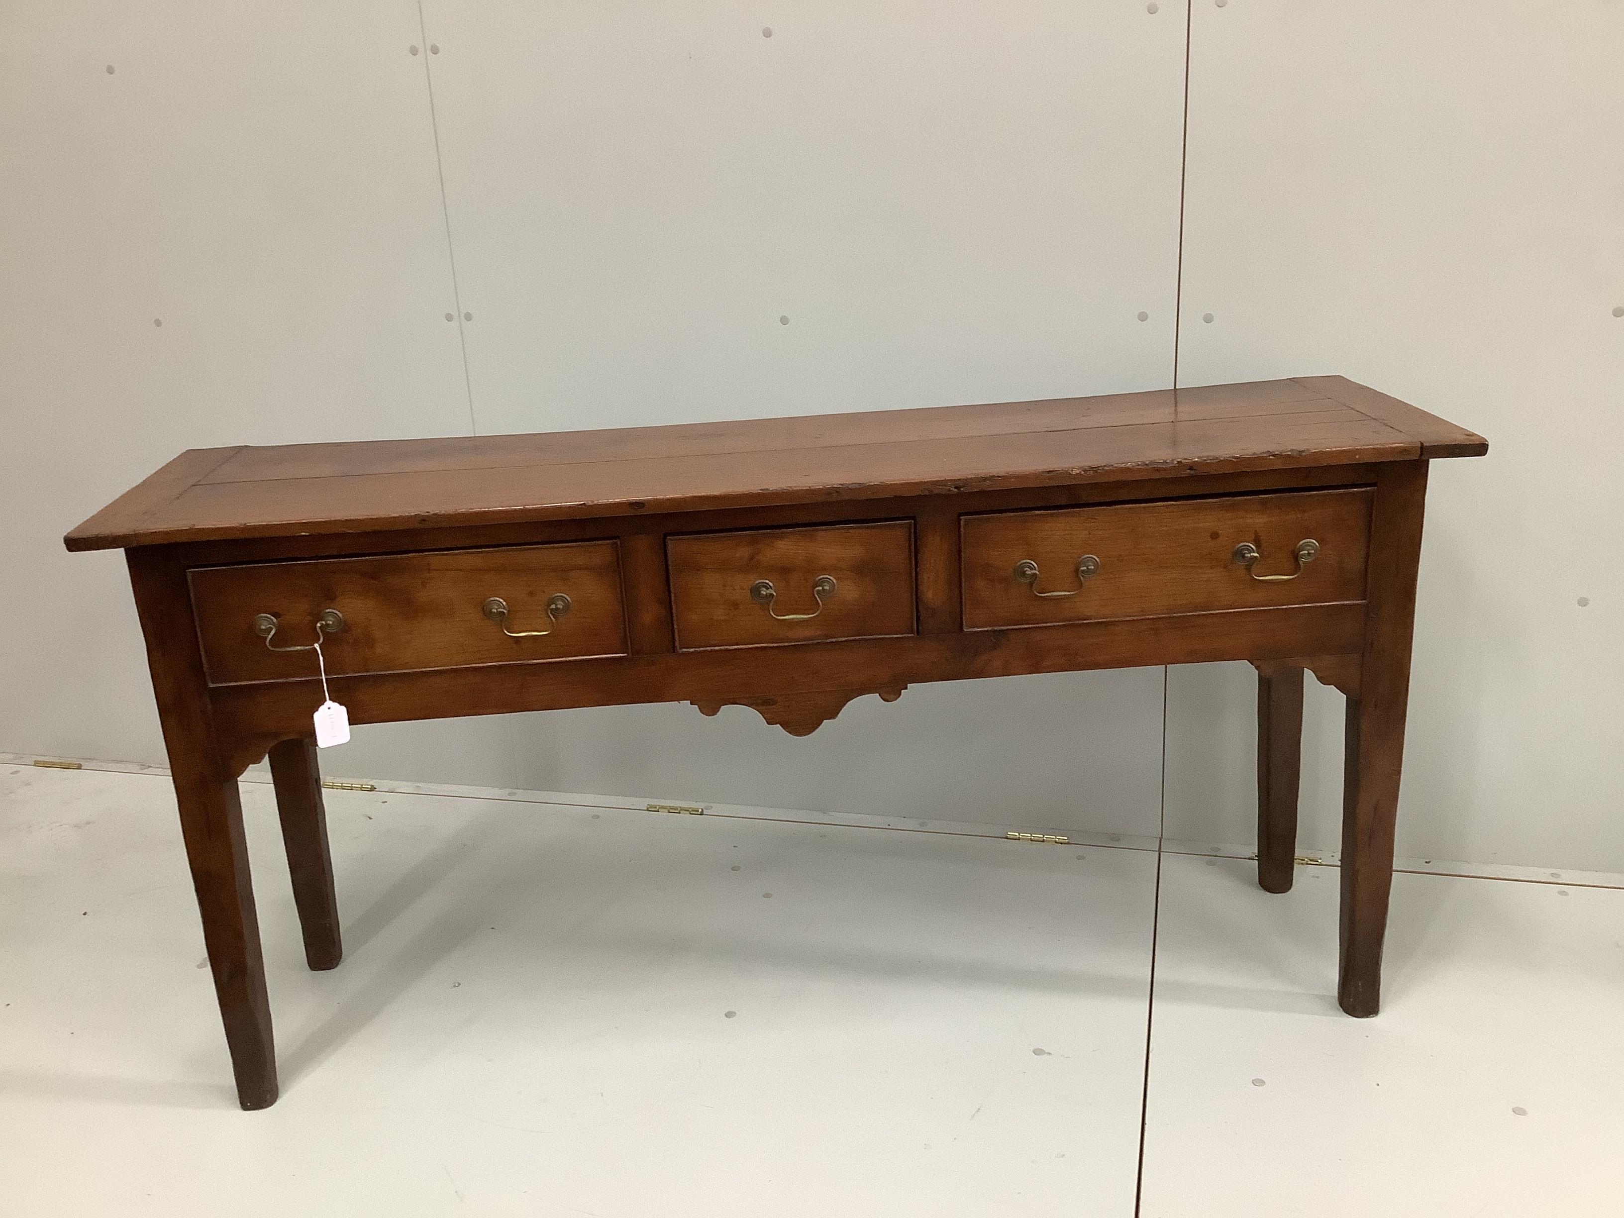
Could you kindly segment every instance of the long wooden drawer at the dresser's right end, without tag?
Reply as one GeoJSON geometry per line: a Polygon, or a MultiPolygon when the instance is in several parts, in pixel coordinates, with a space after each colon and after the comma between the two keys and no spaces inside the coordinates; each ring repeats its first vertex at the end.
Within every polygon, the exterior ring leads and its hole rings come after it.
{"type": "Polygon", "coordinates": [[[1363,601],[1372,495],[1314,490],[963,516],[965,628],[1363,601]],[[1302,542],[1315,546],[1299,564],[1302,542]],[[1242,544],[1255,549],[1254,562],[1237,562],[1242,544]]]}

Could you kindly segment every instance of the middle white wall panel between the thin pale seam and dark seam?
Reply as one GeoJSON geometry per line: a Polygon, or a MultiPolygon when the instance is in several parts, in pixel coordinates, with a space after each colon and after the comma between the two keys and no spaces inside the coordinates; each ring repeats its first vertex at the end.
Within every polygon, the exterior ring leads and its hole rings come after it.
{"type": "MultiPolygon", "coordinates": [[[[425,21],[481,432],[1169,383],[1181,3],[425,21]]],[[[804,741],[684,706],[515,732],[526,786],[1150,833],[1161,672],[909,690],[804,741]]]]}

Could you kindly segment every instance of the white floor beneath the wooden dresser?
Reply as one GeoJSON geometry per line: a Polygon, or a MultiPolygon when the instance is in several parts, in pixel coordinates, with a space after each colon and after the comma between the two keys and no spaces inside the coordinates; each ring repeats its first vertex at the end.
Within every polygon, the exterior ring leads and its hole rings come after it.
{"type": "Polygon", "coordinates": [[[1624,890],[1400,875],[1361,1021],[1333,867],[330,791],[310,973],[244,791],[265,1112],[167,778],[0,765],[5,1218],[1624,1212],[1624,890]]]}

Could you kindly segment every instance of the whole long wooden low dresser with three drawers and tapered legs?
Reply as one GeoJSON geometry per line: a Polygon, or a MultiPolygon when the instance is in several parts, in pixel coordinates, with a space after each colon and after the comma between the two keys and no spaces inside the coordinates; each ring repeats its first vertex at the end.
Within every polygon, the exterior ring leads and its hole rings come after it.
{"type": "Polygon", "coordinates": [[[208,448],[67,546],[127,552],[237,1093],[265,1108],[237,778],[270,755],[305,955],[333,968],[318,656],[352,723],[680,700],[796,736],[922,680],[1249,659],[1270,892],[1312,672],[1348,697],[1338,999],[1374,1015],[1427,461],[1484,451],[1341,377],[208,448]]]}

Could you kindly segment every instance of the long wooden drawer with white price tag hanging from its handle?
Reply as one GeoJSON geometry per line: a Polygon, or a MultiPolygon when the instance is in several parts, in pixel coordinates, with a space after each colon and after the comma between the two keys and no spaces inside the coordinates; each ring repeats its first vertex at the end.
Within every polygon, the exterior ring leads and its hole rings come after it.
{"type": "Polygon", "coordinates": [[[266,641],[310,643],[326,609],[344,619],[322,641],[330,674],[625,654],[612,541],[203,567],[190,580],[214,685],[313,677],[313,653],[266,641]],[[490,598],[507,614],[487,611],[490,598]],[[270,640],[255,628],[260,614],[276,619],[270,640]]]}

